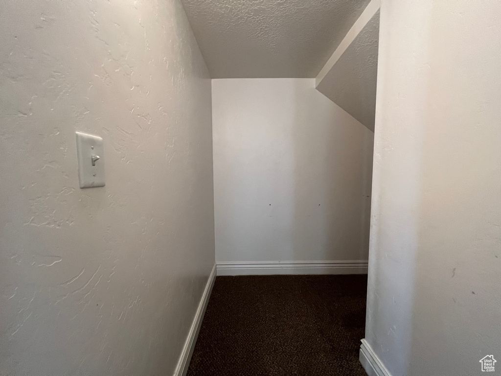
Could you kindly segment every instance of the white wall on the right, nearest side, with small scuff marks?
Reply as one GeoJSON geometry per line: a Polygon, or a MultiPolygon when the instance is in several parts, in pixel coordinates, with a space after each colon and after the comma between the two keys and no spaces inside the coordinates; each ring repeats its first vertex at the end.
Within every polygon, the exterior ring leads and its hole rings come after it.
{"type": "Polygon", "coordinates": [[[382,0],[366,339],[393,376],[499,364],[500,34],[499,2],[382,0]]]}

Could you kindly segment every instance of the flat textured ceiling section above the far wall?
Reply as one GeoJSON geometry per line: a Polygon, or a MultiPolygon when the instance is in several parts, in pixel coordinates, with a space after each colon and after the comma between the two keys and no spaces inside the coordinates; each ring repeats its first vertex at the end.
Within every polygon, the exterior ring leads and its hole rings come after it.
{"type": "Polygon", "coordinates": [[[369,0],[181,2],[212,78],[311,78],[369,0]]]}

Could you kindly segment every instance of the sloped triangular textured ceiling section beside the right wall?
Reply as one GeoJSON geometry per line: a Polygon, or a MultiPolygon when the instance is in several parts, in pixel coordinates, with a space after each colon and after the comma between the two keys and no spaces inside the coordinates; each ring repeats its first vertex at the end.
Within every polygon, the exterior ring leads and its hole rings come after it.
{"type": "Polygon", "coordinates": [[[374,132],[379,11],[317,86],[322,94],[374,132]]]}

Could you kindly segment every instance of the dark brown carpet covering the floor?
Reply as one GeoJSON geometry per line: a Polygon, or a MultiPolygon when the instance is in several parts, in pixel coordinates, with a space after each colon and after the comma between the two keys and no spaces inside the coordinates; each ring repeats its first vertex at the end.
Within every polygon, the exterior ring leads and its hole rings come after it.
{"type": "Polygon", "coordinates": [[[217,277],[187,376],[366,376],[366,275],[217,277]]]}

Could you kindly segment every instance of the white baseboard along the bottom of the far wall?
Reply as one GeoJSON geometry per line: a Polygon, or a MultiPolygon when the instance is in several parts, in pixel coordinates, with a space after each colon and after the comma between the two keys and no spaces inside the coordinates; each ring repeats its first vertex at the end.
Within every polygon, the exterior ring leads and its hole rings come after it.
{"type": "Polygon", "coordinates": [[[217,262],[217,275],[367,274],[367,260],[217,262]]]}

